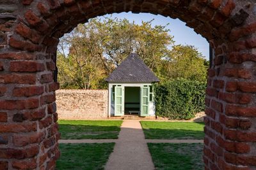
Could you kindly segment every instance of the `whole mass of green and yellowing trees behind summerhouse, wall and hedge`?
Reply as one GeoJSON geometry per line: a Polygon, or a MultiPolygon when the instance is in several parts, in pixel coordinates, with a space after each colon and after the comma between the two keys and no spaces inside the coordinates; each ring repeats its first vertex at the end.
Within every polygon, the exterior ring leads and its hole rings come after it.
{"type": "Polygon", "coordinates": [[[172,78],[206,81],[207,61],[194,46],[174,45],[166,25],[152,20],[93,18],[61,38],[58,81],[62,89],[105,89],[104,79],[132,51],[137,52],[161,81],[172,78]]]}

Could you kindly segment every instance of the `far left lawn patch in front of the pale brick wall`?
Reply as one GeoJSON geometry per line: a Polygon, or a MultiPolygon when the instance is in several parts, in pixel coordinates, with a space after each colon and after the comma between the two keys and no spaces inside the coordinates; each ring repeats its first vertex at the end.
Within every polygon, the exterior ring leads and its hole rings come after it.
{"type": "Polygon", "coordinates": [[[59,120],[61,139],[117,139],[122,120],[59,120]]]}

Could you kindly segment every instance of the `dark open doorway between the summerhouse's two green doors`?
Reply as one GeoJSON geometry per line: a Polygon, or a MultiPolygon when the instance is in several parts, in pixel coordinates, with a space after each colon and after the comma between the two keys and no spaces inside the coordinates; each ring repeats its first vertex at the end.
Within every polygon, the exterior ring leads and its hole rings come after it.
{"type": "Polygon", "coordinates": [[[125,115],[140,115],[140,87],[125,87],[125,115]]]}

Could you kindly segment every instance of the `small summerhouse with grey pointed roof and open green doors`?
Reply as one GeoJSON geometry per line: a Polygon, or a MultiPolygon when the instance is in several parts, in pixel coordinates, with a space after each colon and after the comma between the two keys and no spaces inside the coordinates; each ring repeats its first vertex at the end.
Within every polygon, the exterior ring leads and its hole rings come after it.
{"type": "Polygon", "coordinates": [[[106,81],[109,85],[109,116],[155,115],[152,83],[158,82],[159,79],[137,53],[130,53],[106,81]]]}

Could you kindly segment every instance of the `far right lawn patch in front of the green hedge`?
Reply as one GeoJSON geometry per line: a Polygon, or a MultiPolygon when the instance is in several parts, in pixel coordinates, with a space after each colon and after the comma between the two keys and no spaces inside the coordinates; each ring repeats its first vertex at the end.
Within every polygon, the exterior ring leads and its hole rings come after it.
{"type": "Polygon", "coordinates": [[[203,122],[141,121],[146,139],[203,139],[203,122]]]}

